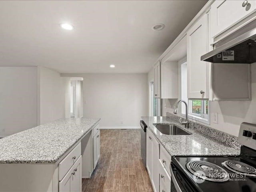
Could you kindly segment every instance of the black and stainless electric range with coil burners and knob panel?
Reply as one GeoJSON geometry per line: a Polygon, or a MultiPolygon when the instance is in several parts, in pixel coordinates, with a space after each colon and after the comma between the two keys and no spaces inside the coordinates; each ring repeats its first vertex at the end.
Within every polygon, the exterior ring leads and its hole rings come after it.
{"type": "Polygon", "coordinates": [[[256,192],[256,124],[242,123],[239,156],[172,156],[172,192],[256,192]]]}

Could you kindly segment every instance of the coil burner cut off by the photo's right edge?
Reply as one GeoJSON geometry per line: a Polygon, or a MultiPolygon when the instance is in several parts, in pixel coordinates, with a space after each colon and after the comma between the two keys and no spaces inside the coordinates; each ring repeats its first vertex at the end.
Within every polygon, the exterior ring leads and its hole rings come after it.
{"type": "Polygon", "coordinates": [[[243,162],[227,160],[224,161],[222,165],[235,173],[244,174],[245,176],[256,177],[256,169],[243,162]]]}

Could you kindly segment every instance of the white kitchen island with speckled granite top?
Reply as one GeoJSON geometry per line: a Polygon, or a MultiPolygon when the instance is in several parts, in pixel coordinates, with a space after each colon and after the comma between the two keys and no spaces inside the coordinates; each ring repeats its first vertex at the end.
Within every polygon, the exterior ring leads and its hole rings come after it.
{"type": "Polygon", "coordinates": [[[81,191],[82,162],[93,168],[92,136],[99,138],[99,121],[60,119],[2,138],[0,191],[81,191]]]}

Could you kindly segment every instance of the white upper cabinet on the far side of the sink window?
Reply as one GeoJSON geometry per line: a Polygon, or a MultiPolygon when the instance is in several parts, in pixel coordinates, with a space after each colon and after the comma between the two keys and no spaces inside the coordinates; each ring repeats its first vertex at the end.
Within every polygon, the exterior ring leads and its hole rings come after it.
{"type": "Polygon", "coordinates": [[[178,62],[158,62],[154,66],[154,97],[178,98],[178,62]]]}

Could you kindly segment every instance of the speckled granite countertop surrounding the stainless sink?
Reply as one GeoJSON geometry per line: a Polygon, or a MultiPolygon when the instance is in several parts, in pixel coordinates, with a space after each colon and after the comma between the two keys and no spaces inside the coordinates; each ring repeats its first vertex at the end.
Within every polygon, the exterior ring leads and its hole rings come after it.
{"type": "Polygon", "coordinates": [[[153,132],[158,141],[164,146],[167,152],[173,155],[239,155],[240,150],[232,148],[216,140],[204,136],[194,128],[185,128],[179,122],[169,117],[142,117],[148,128],[153,132]],[[175,124],[176,126],[191,133],[191,135],[165,135],[162,134],[153,124],[175,124]]]}

